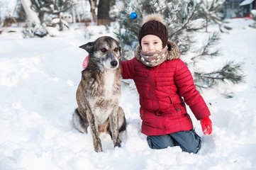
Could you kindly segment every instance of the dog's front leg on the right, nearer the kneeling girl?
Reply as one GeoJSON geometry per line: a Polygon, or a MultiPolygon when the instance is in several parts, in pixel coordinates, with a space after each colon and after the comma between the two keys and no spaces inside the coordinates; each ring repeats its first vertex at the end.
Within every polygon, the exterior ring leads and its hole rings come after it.
{"type": "Polygon", "coordinates": [[[109,118],[110,129],[112,134],[112,140],[114,147],[121,147],[121,140],[119,139],[119,127],[118,127],[118,107],[113,109],[113,112],[109,118]]]}

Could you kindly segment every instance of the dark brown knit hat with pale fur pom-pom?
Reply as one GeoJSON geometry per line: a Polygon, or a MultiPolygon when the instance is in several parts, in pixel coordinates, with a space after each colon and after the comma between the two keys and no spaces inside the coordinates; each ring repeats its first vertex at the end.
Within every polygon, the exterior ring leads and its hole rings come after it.
{"type": "Polygon", "coordinates": [[[162,40],[162,47],[165,47],[168,42],[168,32],[165,26],[165,21],[162,15],[153,13],[143,18],[143,26],[140,27],[138,40],[141,47],[141,39],[145,35],[156,35],[162,40]]]}

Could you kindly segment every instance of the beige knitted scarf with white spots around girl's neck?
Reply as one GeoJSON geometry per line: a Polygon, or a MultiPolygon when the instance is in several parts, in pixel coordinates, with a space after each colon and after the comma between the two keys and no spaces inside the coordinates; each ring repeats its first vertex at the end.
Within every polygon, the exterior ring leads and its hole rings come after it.
{"type": "Polygon", "coordinates": [[[156,52],[143,52],[140,51],[141,62],[149,67],[155,67],[165,61],[168,55],[168,47],[164,47],[162,50],[156,52]]]}

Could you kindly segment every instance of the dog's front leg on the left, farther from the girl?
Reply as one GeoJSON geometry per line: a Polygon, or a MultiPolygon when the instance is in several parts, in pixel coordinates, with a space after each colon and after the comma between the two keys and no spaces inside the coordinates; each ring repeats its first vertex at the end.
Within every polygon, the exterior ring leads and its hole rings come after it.
{"type": "Polygon", "coordinates": [[[94,150],[95,152],[102,152],[101,138],[99,137],[99,128],[98,124],[96,123],[95,116],[91,113],[91,111],[89,111],[87,113],[87,118],[91,128],[91,135],[94,140],[94,150]]]}

